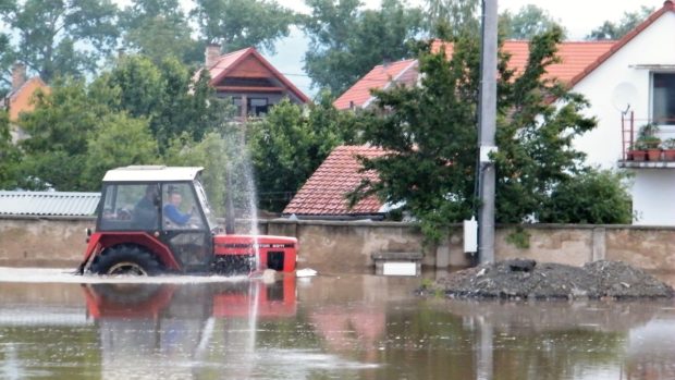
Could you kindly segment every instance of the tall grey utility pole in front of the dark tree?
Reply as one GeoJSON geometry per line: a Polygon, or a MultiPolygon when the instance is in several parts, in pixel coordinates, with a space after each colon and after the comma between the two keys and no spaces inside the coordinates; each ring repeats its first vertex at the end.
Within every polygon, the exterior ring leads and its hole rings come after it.
{"type": "Polygon", "coordinates": [[[480,45],[480,107],[478,119],[478,260],[494,261],[494,163],[491,151],[496,151],[496,0],[482,0],[480,45]]]}

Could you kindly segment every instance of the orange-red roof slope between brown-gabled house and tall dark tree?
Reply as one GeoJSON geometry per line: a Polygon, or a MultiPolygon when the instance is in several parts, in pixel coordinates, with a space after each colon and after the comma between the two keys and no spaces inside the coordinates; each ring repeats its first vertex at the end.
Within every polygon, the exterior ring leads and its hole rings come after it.
{"type": "MultiPolygon", "coordinates": [[[[370,99],[370,89],[383,89],[393,79],[404,75],[410,69],[417,66],[417,60],[409,59],[388,64],[378,64],[366,76],[358,79],[340,98],[335,99],[333,106],[339,110],[346,110],[353,107],[363,107],[370,99]]],[[[415,73],[417,72],[414,70],[415,73]]],[[[416,79],[416,77],[415,77],[416,79]]],[[[408,84],[408,82],[404,82],[408,84]]]]}

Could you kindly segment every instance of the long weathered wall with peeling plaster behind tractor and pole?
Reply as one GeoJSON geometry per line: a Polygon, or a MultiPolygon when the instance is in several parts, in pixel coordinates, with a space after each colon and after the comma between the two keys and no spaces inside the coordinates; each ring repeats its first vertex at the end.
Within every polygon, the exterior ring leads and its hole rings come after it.
{"type": "MultiPolygon", "coordinates": [[[[241,232],[246,223],[237,223],[241,232]]],[[[0,218],[0,266],[75,267],[85,249],[86,228],[93,219],[0,218]]],[[[447,232],[438,246],[425,246],[412,223],[289,221],[260,223],[261,233],[295,236],[299,267],[322,271],[370,270],[373,253],[425,255],[427,267],[468,266],[463,253],[462,228],[447,232]]],[[[675,228],[635,225],[535,224],[499,226],[498,260],[525,257],[581,266],[598,259],[623,260],[647,270],[675,271],[675,228]],[[514,236],[519,238],[514,238],[514,236]]]]}

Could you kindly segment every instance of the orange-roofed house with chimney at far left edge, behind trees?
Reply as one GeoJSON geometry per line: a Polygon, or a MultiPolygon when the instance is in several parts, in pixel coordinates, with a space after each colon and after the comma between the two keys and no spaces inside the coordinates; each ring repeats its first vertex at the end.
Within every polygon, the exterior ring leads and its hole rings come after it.
{"type": "Polygon", "coordinates": [[[2,99],[2,108],[9,111],[10,123],[12,124],[12,140],[25,138],[24,132],[15,124],[22,112],[30,112],[35,108],[33,95],[37,90],[49,93],[49,86],[39,76],[26,78],[26,66],[23,63],[15,63],[12,66],[12,89],[2,99]]]}

